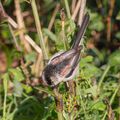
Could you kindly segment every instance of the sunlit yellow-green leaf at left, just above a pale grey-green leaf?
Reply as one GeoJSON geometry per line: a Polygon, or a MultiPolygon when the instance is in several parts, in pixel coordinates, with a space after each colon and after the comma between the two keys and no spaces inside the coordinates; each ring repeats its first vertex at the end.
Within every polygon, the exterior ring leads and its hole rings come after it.
{"type": "Polygon", "coordinates": [[[11,75],[13,75],[14,80],[17,80],[17,81],[24,80],[24,75],[20,68],[10,68],[8,71],[11,75]]]}

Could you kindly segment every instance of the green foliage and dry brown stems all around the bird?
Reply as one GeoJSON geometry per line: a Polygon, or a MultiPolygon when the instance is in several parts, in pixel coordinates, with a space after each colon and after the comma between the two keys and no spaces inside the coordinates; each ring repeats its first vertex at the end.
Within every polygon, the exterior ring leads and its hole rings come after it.
{"type": "Polygon", "coordinates": [[[0,120],[56,119],[120,120],[120,0],[0,1],[0,120]],[[40,76],[70,48],[84,11],[79,72],[56,96],[40,76]]]}

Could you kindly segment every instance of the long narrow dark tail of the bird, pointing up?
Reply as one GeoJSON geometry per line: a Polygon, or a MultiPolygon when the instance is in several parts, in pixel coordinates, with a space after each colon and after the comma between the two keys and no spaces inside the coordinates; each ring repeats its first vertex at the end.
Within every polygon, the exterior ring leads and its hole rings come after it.
{"type": "Polygon", "coordinates": [[[89,19],[90,19],[90,16],[88,13],[86,13],[83,18],[82,24],[78,29],[78,33],[77,33],[77,36],[76,36],[75,42],[73,43],[72,48],[77,48],[79,46],[80,40],[82,39],[82,37],[85,33],[85,30],[88,26],[89,19]]]}

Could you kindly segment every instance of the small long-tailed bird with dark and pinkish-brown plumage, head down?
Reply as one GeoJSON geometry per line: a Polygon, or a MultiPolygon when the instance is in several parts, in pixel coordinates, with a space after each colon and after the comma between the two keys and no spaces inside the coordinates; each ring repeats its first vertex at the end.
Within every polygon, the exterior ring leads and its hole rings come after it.
{"type": "Polygon", "coordinates": [[[71,48],[64,52],[58,52],[48,61],[42,72],[44,85],[52,88],[61,82],[72,80],[77,72],[80,61],[80,53],[83,48],[80,44],[85,30],[88,26],[90,16],[86,13],[83,17],[81,26],[78,27],[76,38],[71,48]]]}

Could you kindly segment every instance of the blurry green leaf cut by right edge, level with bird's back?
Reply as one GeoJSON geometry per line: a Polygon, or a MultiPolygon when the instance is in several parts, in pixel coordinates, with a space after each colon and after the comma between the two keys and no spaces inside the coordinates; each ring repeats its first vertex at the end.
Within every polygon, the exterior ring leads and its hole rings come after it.
{"type": "Polygon", "coordinates": [[[120,50],[115,51],[109,56],[108,64],[111,66],[120,65],[120,50]]]}

